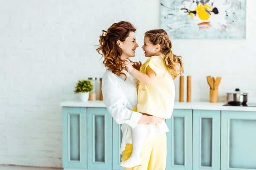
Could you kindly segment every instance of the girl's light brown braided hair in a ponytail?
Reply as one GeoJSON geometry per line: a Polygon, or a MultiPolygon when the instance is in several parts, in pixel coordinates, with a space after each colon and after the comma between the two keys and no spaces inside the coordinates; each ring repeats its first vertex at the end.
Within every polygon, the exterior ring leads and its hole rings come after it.
{"type": "Polygon", "coordinates": [[[172,53],[172,41],[169,40],[167,32],[163,29],[153,29],[145,32],[145,37],[149,37],[152,44],[160,45],[161,52],[165,55],[164,60],[166,67],[173,79],[178,75],[183,74],[182,57],[172,53]]]}

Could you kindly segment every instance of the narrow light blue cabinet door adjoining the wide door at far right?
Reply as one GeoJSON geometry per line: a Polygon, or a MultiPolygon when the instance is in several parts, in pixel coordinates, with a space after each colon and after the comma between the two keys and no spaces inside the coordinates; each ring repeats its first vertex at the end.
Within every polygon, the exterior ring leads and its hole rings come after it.
{"type": "Polygon", "coordinates": [[[220,169],[221,111],[193,110],[193,169],[220,169]]]}

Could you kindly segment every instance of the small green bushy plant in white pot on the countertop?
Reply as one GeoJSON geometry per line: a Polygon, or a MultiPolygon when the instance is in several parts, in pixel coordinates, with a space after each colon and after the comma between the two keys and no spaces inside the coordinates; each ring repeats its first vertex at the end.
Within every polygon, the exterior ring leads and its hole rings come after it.
{"type": "Polygon", "coordinates": [[[82,102],[89,99],[89,92],[93,90],[93,84],[89,80],[79,80],[76,83],[75,94],[79,94],[82,102]]]}

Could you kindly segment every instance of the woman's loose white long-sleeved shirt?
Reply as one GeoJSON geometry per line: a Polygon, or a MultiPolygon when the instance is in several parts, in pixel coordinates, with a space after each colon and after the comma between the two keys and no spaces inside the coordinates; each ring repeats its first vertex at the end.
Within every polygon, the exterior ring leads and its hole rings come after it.
{"type": "MultiPolygon", "coordinates": [[[[102,94],[103,101],[109,113],[116,121],[117,124],[121,125],[121,130],[123,133],[120,154],[125,150],[127,143],[132,144],[132,131],[137,125],[137,122],[142,116],[139,112],[131,111],[137,108],[137,79],[131,77],[131,75],[123,70],[123,73],[127,76],[121,75],[118,77],[111,71],[107,70],[102,77],[102,94]]],[[[154,139],[157,135],[163,135],[168,132],[169,129],[166,122],[159,125],[146,125],[146,139],[144,142],[149,142],[154,139]]]]}

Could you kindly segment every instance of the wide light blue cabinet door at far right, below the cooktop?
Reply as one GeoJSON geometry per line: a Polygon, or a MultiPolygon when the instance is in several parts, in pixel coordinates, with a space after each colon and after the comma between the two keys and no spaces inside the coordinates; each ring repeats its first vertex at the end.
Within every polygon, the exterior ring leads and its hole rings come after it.
{"type": "Polygon", "coordinates": [[[256,170],[256,112],[221,111],[221,170],[256,170]]]}

